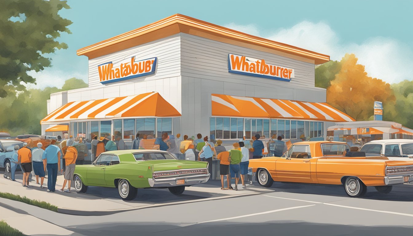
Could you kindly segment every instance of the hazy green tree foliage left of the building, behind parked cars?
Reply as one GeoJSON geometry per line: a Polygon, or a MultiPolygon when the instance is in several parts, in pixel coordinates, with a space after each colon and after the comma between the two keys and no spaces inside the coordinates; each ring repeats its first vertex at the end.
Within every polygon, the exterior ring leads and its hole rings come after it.
{"type": "Polygon", "coordinates": [[[66,80],[62,89],[28,89],[0,98],[0,114],[3,114],[0,119],[0,131],[9,132],[12,136],[26,133],[41,134],[40,120],[47,115],[46,100],[50,99],[50,93],[87,86],[83,80],[71,78],[66,80]]]}

